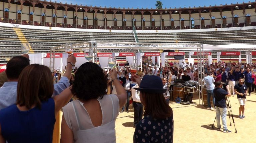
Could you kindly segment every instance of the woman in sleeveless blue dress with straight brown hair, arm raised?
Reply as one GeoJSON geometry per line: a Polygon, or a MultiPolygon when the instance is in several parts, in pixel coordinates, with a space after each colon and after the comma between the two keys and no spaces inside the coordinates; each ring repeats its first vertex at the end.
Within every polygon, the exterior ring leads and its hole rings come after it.
{"type": "Polygon", "coordinates": [[[0,111],[0,143],[52,143],[55,116],[72,97],[69,88],[52,97],[53,90],[48,67],[23,69],[16,104],[0,111]]]}

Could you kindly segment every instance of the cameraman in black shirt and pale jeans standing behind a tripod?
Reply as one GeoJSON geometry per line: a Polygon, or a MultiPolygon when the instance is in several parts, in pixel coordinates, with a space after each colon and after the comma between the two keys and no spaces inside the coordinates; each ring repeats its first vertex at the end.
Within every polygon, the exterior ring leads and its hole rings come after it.
{"type": "MultiPolygon", "coordinates": [[[[230,133],[231,131],[227,129],[226,123],[226,115],[227,115],[227,106],[226,106],[226,96],[231,96],[229,88],[226,87],[227,91],[222,89],[221,81],[215,82],[216,88],[213,90],[213,94],[215,97],[215,108],[216,108],[216,121],[217,121],[217,129],[221,129],[220,125],[220,116],[223,125],[223,132],[230,133]]],[[[227,85],[228,86],[228,85],[227,85]]]]}

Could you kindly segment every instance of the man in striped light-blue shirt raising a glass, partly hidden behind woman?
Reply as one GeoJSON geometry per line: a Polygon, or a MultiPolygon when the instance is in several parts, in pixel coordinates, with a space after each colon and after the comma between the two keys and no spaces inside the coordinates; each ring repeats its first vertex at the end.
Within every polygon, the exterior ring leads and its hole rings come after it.
{"type": "MultiPolygon", "coordinates": [[[[15,104],[17,98],[17,84],[18,77],[21,71],[29,65],[30,60],[27,56],[16,56],[8,61],[6,65],[7,82],[4,82],[0,88],[0,110],[6,108],[12,104],[15,104]]],[[[73,54],[67,58],[67,69],[60,81],[54,84],[53,96],[60,94],[64,89],[68,88],[70,83],[71,70],[73,64],[76,63],[76,58],[73,54]]]]}

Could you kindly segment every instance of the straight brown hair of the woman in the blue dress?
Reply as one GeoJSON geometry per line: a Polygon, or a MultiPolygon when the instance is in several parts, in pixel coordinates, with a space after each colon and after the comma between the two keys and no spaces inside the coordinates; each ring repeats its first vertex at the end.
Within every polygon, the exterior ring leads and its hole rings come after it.
{"type": "Polygon", "coordinates": [[[31,109],[33,105],[41,108],[53,94],[52,74],[44,65],[32,64],[21,72],[17,86],[16,104],[31,109]]]}

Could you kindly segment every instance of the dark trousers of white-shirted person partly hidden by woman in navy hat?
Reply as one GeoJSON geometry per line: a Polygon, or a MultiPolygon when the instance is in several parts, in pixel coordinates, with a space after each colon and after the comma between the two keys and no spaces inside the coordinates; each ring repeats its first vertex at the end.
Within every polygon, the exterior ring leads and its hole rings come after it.
{"type": "Polygon", "coordinates": [[[140,120],[142,120],[143,115],[143,105],[138,102],[132,102],[133,108],[134,108],[134,118],[133,118],[133,124],[134,127],[139,123],[140,120]]]}

